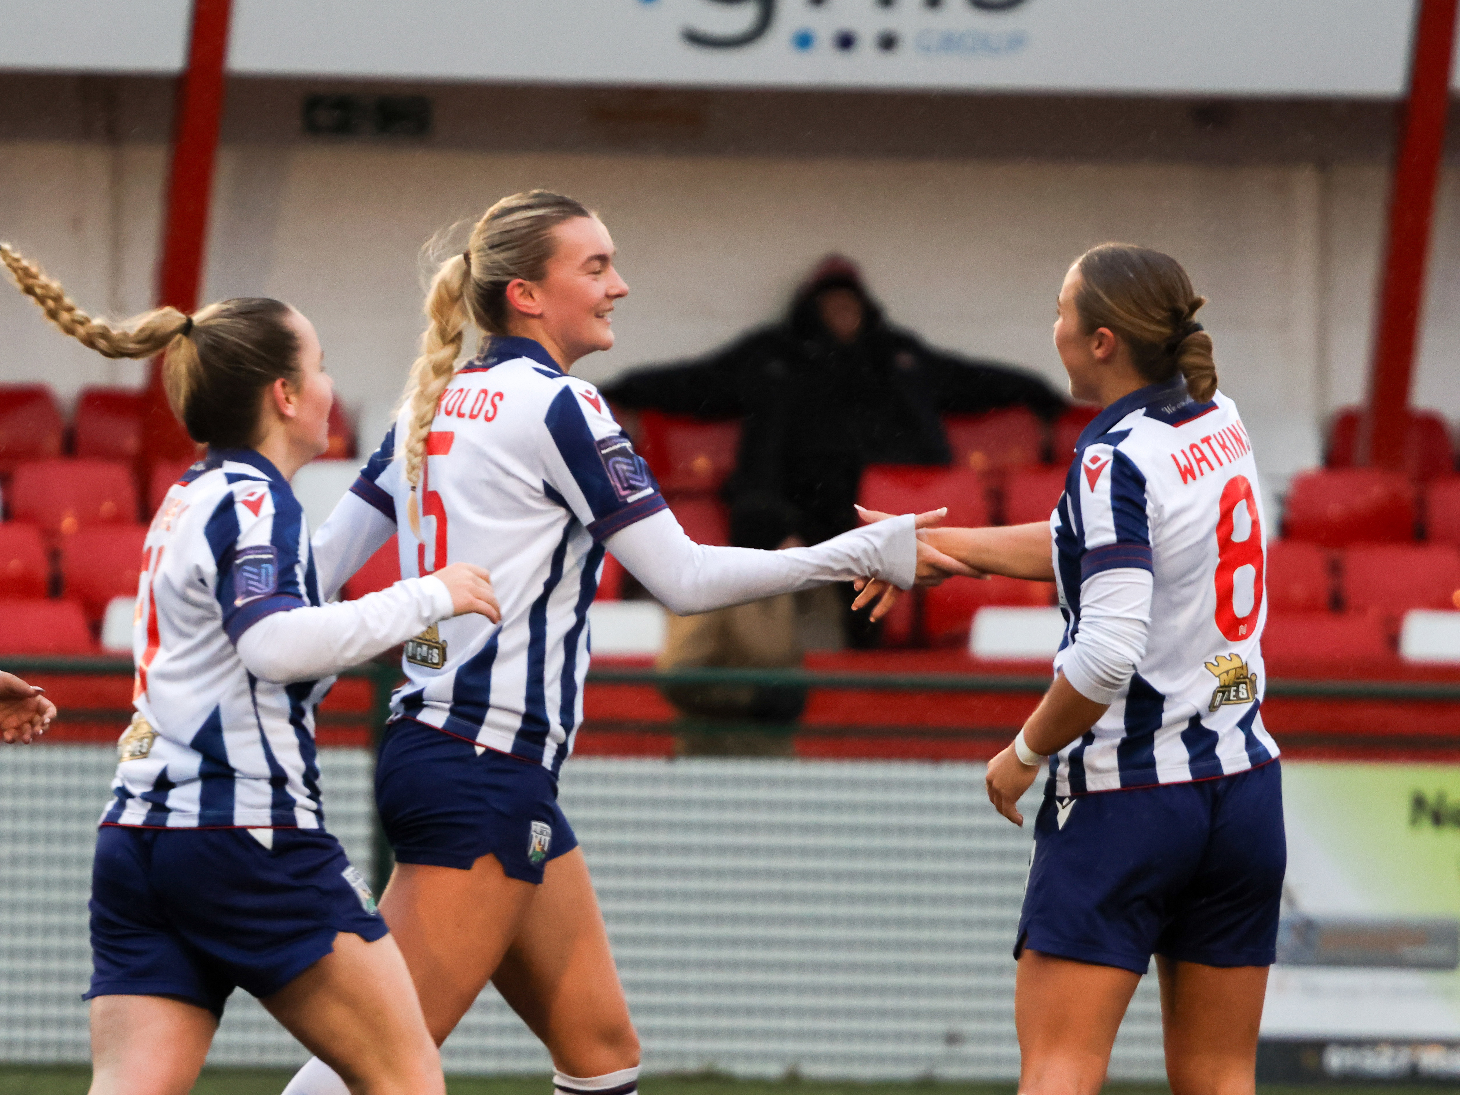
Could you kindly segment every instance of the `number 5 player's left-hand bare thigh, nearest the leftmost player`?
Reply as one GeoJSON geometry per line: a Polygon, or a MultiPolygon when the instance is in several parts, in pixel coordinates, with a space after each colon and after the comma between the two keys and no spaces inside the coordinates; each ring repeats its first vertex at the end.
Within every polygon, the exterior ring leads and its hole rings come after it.
{"type": "Polygon", "coordinates": [[[439,1045],[486,987],[520,930],[536,886],[495,856],[470,870],[397,863],[380,901],[439,1045]]]}

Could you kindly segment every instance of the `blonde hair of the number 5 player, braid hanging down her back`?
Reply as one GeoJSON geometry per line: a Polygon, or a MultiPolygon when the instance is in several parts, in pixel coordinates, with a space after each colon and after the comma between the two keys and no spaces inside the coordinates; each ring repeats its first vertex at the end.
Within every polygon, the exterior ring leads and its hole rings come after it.
{"type": "Polygon", "coordinates": [[[553,229],[580,216],[593,213],[580,201],[548,190],[504,197],[472,228],[466,251],[441,263],[431,279],[420,355],[410,366],[402,396],[402,406],[410,409],[410,428],[400,444],[406,482],[412,486],[406,517],[418,536],[420,512],[415,488],[426,460],[426,434],[441,393],[456,375],[467,323],[474,323],[489,337],[508,334],[507,286],[518,279],[542,280],[556,247],[553,229]]]}

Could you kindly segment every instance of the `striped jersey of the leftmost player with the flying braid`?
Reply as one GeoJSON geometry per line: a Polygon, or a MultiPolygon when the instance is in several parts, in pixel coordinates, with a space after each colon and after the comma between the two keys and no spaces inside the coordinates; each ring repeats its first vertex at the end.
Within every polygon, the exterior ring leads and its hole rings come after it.
{"type": "Polygon", "coordinates": [[[321,828],[314,705],[333,677],[258,680],[234,648],[266,616],[320,603],[289,483],[253,450],[213,451],[168,489],[145,545],[136,715],[102,823],[321,828]]]}

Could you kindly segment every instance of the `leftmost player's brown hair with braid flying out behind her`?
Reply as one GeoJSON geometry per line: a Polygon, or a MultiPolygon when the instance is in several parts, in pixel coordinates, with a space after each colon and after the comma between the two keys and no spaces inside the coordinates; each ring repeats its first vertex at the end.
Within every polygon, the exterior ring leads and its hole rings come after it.
{"type": "Polygon", "coordinates": [[[156,308],[114,326],[83,312],[60,282],[9,244],[0,244],[0,261],[45,318],[83,346],[107,358],[150,358],[165,350],[168,404],[199,444],[247,448],[257,439],[264,388],[280,377],[298,380],[299,339],[282,301],[235,298],[197,315],[156,308]]]}

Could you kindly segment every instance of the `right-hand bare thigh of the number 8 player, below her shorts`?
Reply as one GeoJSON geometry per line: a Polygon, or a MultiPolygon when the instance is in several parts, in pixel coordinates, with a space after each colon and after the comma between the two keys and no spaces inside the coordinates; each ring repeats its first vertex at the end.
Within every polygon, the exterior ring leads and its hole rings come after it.
{"type": "Polygon", "coordinates": [[[1156,965],[1172,1095],[1251,1095],[1267,967],[1156,965]]]}

